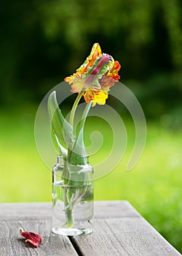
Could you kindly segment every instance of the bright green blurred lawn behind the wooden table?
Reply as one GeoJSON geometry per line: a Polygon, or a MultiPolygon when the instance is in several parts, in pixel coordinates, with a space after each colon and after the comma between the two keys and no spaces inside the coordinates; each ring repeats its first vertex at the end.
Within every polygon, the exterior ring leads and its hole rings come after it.
{"type": "MultiPolygon", "coordinates": [[[[0,203],[50,201],[51,171],[36,150],[33,125],[36,108],[1,110],[0,203]]],[[[111,148],[111,131],[97,121],[103,133],[103,149],[90,157],[95,165],[111,148]]],[[[90,133],[92,121],[87,122],[90,133]]],[[[127,124],[128,143],[124,158],[116,168],[95,181],[95,200],[129,200],[162,236],[182,251],[181,133],[147,124],[146,148],[138,164],[127,172],[134,143],[132,123],[127,124]]],[[[90,138],[86,135],[87,144],[90,138]]]]}

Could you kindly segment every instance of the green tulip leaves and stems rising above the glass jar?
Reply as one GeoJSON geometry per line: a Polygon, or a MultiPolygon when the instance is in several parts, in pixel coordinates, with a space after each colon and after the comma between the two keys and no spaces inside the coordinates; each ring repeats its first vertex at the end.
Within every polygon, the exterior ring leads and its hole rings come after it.
{"type": "MultiPolygon", "coordinates": [[[[84,157],[86,157],[86,151],[84,148],[84,123],[91,105],[92,102],[87,104],[84,109],[82,121],[80,122],[79,133],[75,138],[74,127],[70,122],[66,121],[58,106],[56,91],[52,91],[48,98],[47,108],[50,116],[52,134],[55,135],[55,138],[58,141],[60,154],[68,157],[68,162],[72,165],[83,165],[87,162],[87,159],[84,159],[84,157]],[[66,145],[66,148],[64,148],[64,145],[66,145]]],[[[75,112],[75,106],[73,106],[73,109],[75,112]]]]}

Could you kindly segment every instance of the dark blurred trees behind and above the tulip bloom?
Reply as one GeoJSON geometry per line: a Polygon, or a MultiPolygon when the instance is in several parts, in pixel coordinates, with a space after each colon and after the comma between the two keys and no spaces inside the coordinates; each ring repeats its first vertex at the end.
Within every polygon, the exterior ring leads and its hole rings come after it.
{"type": "Polygon", "coordinates": [[[154,77],[175,74],[170,89],[181,94],[180,0],[4,0],[1,7],[1,102],[40,100],[82,64],[94,42],[122,63],[123,83],[138,81],[142,93],[128,84],[139,99],[149,95],[147,111],[159,86],[160,100],[169,103],[154,77]]]}

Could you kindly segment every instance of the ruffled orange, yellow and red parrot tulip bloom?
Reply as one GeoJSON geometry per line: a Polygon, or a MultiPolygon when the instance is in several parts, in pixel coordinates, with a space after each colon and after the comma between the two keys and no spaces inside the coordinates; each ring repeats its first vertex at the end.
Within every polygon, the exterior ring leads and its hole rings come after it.
{"type": "Polygon", "coordinates": [[[91,101],[92,106],[96,103],[104,105],[109,89],[120,78],[120,68],[119,62],[114,61],[112,56],[102,53],[100,45],[95,43],[84,64],[65,80],[71,85],[71,92],[82,92],[85,102],[91,101]]]}

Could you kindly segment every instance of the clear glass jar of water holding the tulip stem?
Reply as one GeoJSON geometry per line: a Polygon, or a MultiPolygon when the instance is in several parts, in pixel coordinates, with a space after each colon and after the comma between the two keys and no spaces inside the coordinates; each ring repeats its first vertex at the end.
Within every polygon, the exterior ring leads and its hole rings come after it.
{"type": "Polygon", "coordinates": [[[52,169],[53,233],[65,236],[92,233],[92,176],[88,157],[68,161],[58,155],[57,165],[52,169]]]}

